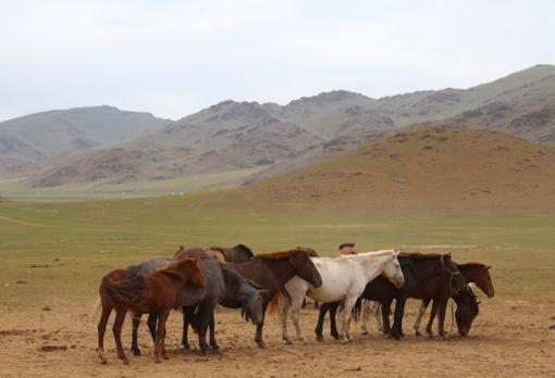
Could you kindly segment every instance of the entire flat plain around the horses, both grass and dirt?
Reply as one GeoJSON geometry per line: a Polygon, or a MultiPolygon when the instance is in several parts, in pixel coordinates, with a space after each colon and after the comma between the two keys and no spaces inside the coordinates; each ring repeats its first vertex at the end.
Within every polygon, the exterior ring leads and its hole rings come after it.
{"type": "MultiPolygon", "coordinates": [[[[156,199],[0,202],[0,376],[443,377],[446,368],[468,377],[555,374],[555,331],[550,328],[555,328],[554,212],[284,210],[231,194],[221,190],[156,199]],[[329,337],[323,343],[284,345],[278,318],[271,317],[264,327],[266,350],[255,346],[251,325],[224,310],[217,314],[223,346],[217,355],[177,351],[181,322],[174,314],[170,361],[152,363],[143,328],[145,356],[122,365],[108,332],[110,363],[98,363],[90,314],[99,279],[112,268],[171,256],[178,244],[243,242],[258,253],[310,245],[333,255],[343,241],[355,241],[360,250],[449,251],[456,261],[491,264],[496,295],[488,300],[481,294],[470,336],[451,342],[411,336],[416,301],[407,306],[407,340],[402,343],[378,335],[371,324],[370,337],[361,337],[354,325],[349,345],[329,337]]],[[[316,314],[301,312],[310,339],[316,314]]],[[[449,325],[451,318],[447,329],[449,325]]],[[[125,345],[128,332],[125,328],[125,345]]],[[[195,339],[192,336],[194,344],[195,339]]]]}

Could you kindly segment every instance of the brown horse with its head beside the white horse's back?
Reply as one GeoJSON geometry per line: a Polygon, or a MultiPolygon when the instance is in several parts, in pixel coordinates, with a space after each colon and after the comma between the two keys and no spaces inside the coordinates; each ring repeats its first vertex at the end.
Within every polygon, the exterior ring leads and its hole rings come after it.
{"type": "MultiPolygon", "coordinates": [[[[322,285],[322,277],[309,259],[316,255],[314,250],[298,247],[283,252],[258,254],[246,263],[232,263],[243,277],[270,291],[268,298],[271,301],[264,302],[264,315],[262,315],[262,322],[257,325],[255,341],[259,348],[266,348],[266,342],[262,339],[266,310],[270,306],[269,312],[272,313],[279,308],[285,282],[299,276],[316,288],[322,285]]],[[[224,306],[240,307],[240,303],[221,303],[224,306]]]]}

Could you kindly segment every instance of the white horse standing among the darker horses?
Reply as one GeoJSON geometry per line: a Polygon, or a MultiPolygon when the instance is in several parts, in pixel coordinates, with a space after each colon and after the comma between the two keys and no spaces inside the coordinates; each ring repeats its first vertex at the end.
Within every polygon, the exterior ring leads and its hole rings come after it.
{"type": "Polygon", "coordinates": [[[316,289],[298,276],[293,277],[285,284],[288,295],[283,295],[280,308],[283,340],[288,344],[292,343],[287,333],[287,315],[291,307],[291,317],[295,325],[297,339],[303,343],[307,342],[298,322],[298,312],[303,305],[303,299],[307,295],[322,303],[343,301],[343,324],[340,338],[344,343],[350,341],[350,313],[357,298],[365,291],[367,284],[381,274],[397,288],[405,284],[397,255],[398,252],[394,250],[383,250],[344,255],[336,259],[310,257],[320,276],[322,276],[322,286],[316,289]]]}

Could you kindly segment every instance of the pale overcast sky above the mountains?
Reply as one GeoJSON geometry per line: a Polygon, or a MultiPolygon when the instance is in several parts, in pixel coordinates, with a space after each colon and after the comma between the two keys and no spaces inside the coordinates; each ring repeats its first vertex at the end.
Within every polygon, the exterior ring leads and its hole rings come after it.
{"type": "Polygon", "coordinates": [[[0,0],[0,121],[467,88],[555,63],[554,15],[539,0],[0,0]]]}

